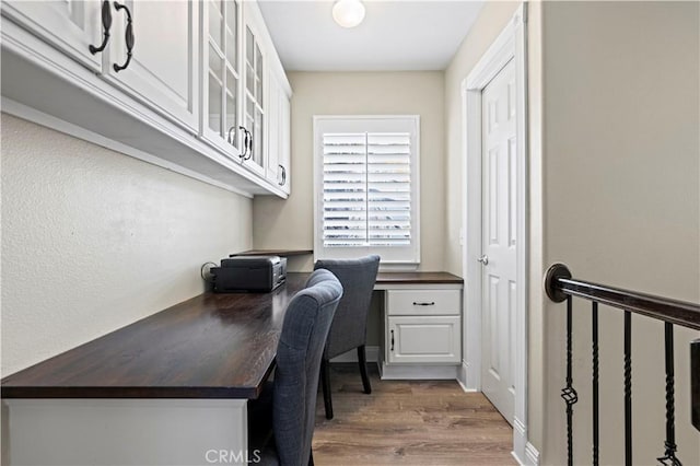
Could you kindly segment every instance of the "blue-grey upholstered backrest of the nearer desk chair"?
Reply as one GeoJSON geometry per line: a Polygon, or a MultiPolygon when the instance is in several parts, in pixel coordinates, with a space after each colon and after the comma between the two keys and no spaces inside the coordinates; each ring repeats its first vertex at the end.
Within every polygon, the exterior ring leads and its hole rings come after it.
{"type": "Polygon", "coordinates": [[[317,270],[287,306],[272,399],[272,430],[284,466],[308,464],[320,358],[341,295],[338,279],[327,270],[317,270]]]}

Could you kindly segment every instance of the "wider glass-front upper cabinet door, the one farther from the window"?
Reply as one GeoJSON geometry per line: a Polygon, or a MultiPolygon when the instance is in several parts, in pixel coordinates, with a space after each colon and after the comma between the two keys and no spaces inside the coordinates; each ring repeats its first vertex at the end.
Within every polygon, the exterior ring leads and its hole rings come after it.
{"type": "Polygon", "coordinates": [[[206,0],[203,5],[202,137],[228,156],[247,156],[249,138],[242,128],[241,4],[235,0],[206,0]]]}

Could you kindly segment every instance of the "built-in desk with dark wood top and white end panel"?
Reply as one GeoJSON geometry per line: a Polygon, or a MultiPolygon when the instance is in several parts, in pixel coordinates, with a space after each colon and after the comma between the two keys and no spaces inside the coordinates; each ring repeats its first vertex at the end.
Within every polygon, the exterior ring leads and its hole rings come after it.
{"type": "MultiPolygon", "coordinates": [[[[289,273],[271,293],[205,293],[3,378],[3,459],[174,466],[222,463],[223,451],[245,464],[246,401],[307,278],[289,273]]],[[[440,282],[462,279],[380,273],[376,288],[440,282]]]]}

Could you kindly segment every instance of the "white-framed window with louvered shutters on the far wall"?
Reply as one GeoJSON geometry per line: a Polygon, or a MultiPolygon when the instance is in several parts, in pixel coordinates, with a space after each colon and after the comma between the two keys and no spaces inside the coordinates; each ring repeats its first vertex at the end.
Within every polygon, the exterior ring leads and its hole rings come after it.
{"type": "Polygon", "coordinates": [[[314,117],[316,259],[420,263],[418,116],[314,117]]]}

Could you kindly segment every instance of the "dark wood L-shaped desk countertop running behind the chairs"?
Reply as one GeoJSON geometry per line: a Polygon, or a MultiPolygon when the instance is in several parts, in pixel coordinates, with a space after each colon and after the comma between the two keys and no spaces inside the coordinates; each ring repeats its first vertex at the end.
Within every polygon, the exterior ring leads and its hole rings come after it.
{"type": "MultiPolygon", "coordinates": [[[[2,380],[3,398],[257,398],[287,304],[310,273],[271,293],[205,293],[2,380]]],[[[444,272],[381,272],[390,284],[462,283],[444,272]]]]}

